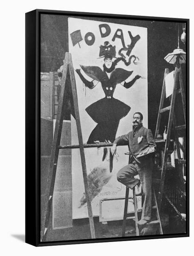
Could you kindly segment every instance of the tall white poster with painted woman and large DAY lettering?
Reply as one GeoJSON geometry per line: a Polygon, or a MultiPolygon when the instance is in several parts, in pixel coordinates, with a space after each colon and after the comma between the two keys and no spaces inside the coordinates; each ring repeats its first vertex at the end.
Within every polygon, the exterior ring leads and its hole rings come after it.
{"type": "MultiPolygon", "coordinates": [[[[127,134],[137,111],[148,127],[147,28],[68,18],[68,35],[84,143],[127,134]]],[[[78,144],[73,117],[71,144],[78,144]]],[[[99,216],[100,199],[125,196],[116,173],[128,164],[128,147],[117,147],[112,168],[109,148],[84,151],[93,215],[99,216]]],[[[79,149],[72,150],[72,208],[74,219],[88,216],[79,149]]]]}

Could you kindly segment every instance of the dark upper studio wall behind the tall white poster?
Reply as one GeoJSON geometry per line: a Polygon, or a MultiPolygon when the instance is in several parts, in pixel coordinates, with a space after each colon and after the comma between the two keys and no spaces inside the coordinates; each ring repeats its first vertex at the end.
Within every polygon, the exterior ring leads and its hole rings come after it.
{"type": "MultiPolygon", "coordinates": [[[[126,20],[86,16],[41,14],[41,72],[57,71],[68,51],[68,17],[100,20],[148,28],[148,111],[149,128],[155,133],[164,69],[174,69],[164,57],[177,47],[178,23],[154,20],[126,20]]],[[[180,34],[182,24],[180,23],[180,34]]],[[[185,50],[180,40],[180,48],[185,50]]],[[[185,65],[182,65],[183,74],[185,65]]],[[[165,121],[164,121],[165,123],[165,121]]],[[[162,124],[163,126],[164,124],[162,124]]]]}

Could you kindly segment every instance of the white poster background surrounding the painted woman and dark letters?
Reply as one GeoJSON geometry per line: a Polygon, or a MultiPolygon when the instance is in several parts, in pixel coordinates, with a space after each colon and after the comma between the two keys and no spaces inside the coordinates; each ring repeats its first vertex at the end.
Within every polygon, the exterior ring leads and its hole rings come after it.
{"type": "MultiPolygon", "coordinates": [[[[138,79],[134,85],[126,89],[121,84],[116,85],[114,92],[114,98],[127,104],[131,109],[123,119],[120,120],[116,137],[119,135],[127,134],[132,129],[132,117],[134,112],[142,112],[143,114],[143,126],[148,127],[148,81],[147,81],[147,28],[135,27],[129,25],[121,25],[116,23],[108,23],[94,20],[84,20],[76,18],[68,18],[68,34],[69,34],[69,52],[72,55],[74,70],[80,68],[80,65],[84,66],[98,66],[103,69],[103,58],[99,59],[99,47],[104,44],[104,41],[109,41],[112,46],[116,46],[116,57],[118,56],[118,50],[122,48],[122,42],[116,38],[112,41],[117,29],[122,29],[125,45],[130,44],[130,38],[128,31],[133,36],[140,35],[140,40],[137,41],[131,54],[138,56],[139,61],[135,65],[133,62],[127,67],[122,61],[120,61],[116,67],[123,68],[128,71],[133,71],[129,77],[129,81],[132,80],[136,74],[141,75],[142,78],[138,79]],[[99,24],[108,24],[111,28],[109,36],[102,38],[99,31],[99,24]],[[70,34],[76,30],[80,30],[83,40],[73,46],[70,34]],[[92,32],[95,35],[95,42],[93,45],[88,46],[85,43],[84,36],[87,32],[92,32]]],[[[80,68],[81,69],[81,68],[80,68]]],[[[92,80],[82,72],[85,78],[92,80]]],[[[104,92],[101,87],[101,83],[98,82],[97,86],[93,89],[85,88],[83,82],[75,72],[76,86],[78,93],[78,107],[82,128],[82,135],[84,143],[87,142],[91,131],[97,123],[91,119],[91,117],[85,111],[85,108],[92,103],[102,99],[104,92]]],[[[128,81],[128,80],[127,80],[128,81]]],[[[104,109],[104,111],[106,111],[104,109]]],[[[71,116],[71,144],[78,144],[78,134],[76,128],[76,122],[71,116]]],[[[116,180],[116,173],[123,166],[128,164],[129,156],[124,155],[128,152],[126,146],[117,147],[117,153],[119,155],[118,161],[113,160],[113,170],[110,173],[109,170],[109,157],[102,162],[103,148],[85,148],[85,159],[88,174],[93,168],[105,168],[106,175],[111,175],[109,182],[103,186],[100,193],[92,200],[92,211],[94,216],[99,216],[99,200],[102,198],[123,197],[125,196],[125,186],[116,180]]],[[[81,159],[79,149],[72,149],[72,208],[73,219],[85,218],[88,216],[87,204],[80,206],[80,200],[84,193],[84,180],[81,169],[81,159]]],[[[114,213],[113,213],[114,214],[114,213]]]]}

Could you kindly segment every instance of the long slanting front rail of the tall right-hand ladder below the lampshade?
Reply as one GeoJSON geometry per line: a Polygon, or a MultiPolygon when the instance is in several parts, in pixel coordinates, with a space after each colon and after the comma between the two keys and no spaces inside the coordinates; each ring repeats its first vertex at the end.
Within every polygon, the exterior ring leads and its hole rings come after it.
{"type": "Polygon", "coordinates": [[[175,68],[175,80],[174,80],[174,88],[172,93],[172,99],[170,104],[170,113],[168,118],[168,128],[167,128],[167,140],[165,143],[164,148],[164,155],[163,155],[163,161],[162,161],[162,173],[161,173],[161,183],[160,188],[158,192],[158,209],[160,212],[161,209],[161,202],[162,202],[162,194],[163,194],[163,188],[164,188],[164,179],[166,175],[166,159],[167,159],[167,152],[168,152],[168,146],[170,143],[170,134],[171,134],[171,128],[172,128],[172,122],[173,122],[173,115],[174,115],[174,108],[175,108],[175,97],[176,97],[176,88],[177,88],[177,81],[178,81],[178,68],[175,68]]]}

